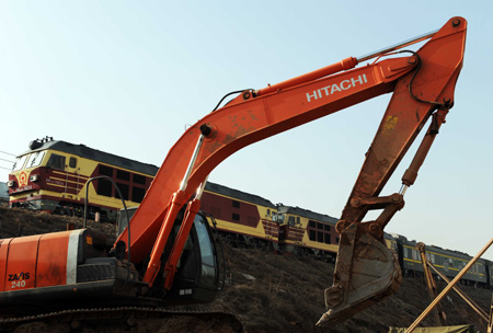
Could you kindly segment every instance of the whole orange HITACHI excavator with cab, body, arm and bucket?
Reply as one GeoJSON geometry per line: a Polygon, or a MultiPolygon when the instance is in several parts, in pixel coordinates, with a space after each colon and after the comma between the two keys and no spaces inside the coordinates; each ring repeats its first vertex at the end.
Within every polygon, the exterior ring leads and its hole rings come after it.
{"type": "Polygon", "coordinates": [[[391,295],[401,275],[385,245],[383,228],[404,206],[405,190],[454,105],[466,30],[465,19],[452,18],[440,30],[368,56],[242,91],[171,148],[114,244],[87,228],[0,240],[2,313],[91,307],[94,300],[99,307],[211,300],[218,286],[217,251],[199,213],[209,173],[248,145],[389,92],[392,97],[336,225],[341,241],[333,286],[325,290],[330,310],[318,324],[344,321],[391,295]],[[424,41],[416,51],[403,50],[424,41]],[[403,187],[379,196],[428,119],[403,187]],[[372,209],[381,214],[363,221],[372,209]]]}

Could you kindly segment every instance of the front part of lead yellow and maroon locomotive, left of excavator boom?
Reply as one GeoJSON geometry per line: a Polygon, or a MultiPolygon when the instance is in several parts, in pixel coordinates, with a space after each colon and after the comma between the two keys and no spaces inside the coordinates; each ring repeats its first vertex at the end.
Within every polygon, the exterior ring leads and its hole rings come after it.
{"type": "MultiPolygon", "coordinates": [[[[138,205],[158,166],[115,154],[45,138],[30,143],[9,174],[10,207],[81,216],[89,179],[111,177],[127,206],[138,205]]],[[[89,187],[90,214],[115,220],[122,200],[108,180],[95,180],[89,187]]]]}

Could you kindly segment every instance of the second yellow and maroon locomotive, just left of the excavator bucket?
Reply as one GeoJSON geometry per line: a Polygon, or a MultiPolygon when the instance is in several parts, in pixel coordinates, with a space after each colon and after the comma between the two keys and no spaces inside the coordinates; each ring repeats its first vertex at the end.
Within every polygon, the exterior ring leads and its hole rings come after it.
{"type": "Polygon", "coordinates": [[[339,246],[336,218],[299,207],[279,205],[279,249],[334,262],[339,246]]]}

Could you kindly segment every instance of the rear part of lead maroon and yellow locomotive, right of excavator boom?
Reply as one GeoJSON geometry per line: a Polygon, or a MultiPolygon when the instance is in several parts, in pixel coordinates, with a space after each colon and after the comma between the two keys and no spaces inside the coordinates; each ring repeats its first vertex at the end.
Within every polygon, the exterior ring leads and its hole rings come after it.
{"type": "Polygon", "coordinates": [[[214,217],[217,229],[234,245],[277,249],[277,207],[270,200],[208,182],[200,202],[200,209],[214,217]]]}

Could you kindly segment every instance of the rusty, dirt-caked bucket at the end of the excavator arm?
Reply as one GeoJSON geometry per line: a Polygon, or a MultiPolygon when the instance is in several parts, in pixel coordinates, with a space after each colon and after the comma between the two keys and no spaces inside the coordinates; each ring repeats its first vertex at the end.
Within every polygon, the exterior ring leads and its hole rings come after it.
{"type": "Polygon", "coordinates": [[[329,309],[317,325],[341,323],[399,289],[401,269],[383,239],[365,223],[353,223],[341,233],[334,282],[325,289],[329,309]]]}

